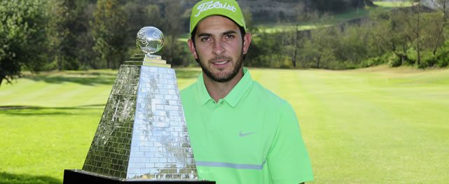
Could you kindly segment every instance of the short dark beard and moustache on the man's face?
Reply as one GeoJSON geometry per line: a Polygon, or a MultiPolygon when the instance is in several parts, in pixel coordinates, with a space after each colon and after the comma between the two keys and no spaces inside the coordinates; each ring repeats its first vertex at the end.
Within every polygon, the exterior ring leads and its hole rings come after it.
{"type": "MultiPolygon", "coordinates": [[[[198,52],[197,52],[197,55],[198,55],[198,52]]],[[[212,61],[219,60],[219,59],[230,60],[232,58],[231,57],[223,57],[223,56],[215,57],[214,59],[209,60],[208,63],[212,63],[212,61]]],[[[230,73],[224,73],[224,75],[215,75],[214,73],[212,73],[211,69],[209,69],[209,67],[206,66],[206,64],[204,64],[203,62],[200,61],[200,59],[198,59],[197,62],[200,64],[202,71],[206,74],[206,76],[208,78],[210,78],[218,83],[226,83],[229,80],[233,79],[235,76],[237,76],[237,73],[239,73],[240,69],[242,69],[243,50],[242,50],[242,52],[240,52],[240,55],[237,58],[235,65],[233,66],[233,69],[230,71],[230,73]]]]}

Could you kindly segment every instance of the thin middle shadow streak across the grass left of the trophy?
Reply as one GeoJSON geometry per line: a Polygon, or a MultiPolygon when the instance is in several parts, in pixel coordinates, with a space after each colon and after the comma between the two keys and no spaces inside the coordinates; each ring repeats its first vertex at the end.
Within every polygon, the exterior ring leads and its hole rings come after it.
{"type": "Polygon", "coordinates": [[[103,108],[106,104],[73,107],[0,106],[0,114],[7,115],[73,115],[77,110],[103,108]]]}

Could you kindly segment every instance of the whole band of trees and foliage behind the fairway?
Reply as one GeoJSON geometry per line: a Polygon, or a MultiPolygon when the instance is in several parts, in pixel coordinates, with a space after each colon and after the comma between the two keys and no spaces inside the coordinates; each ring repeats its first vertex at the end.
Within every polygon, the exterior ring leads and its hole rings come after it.
{"type": "MultiPolygon", "coordinates": [[[[173,66],[196,66],[188,0],[1,1],[0,85],[20,71],[117,69],[139,52],[135,34],[165,33],[173,66]]],[[[354,69],[448,66],[447,0],[240,1],[253,34],[247,66],[354,69]]]]}

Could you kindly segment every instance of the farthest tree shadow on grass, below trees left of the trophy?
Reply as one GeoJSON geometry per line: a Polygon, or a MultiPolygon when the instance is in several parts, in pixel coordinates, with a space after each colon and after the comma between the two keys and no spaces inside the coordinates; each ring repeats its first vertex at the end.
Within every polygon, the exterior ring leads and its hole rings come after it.
{"type": "Polygon", "coordinates": [[[114,80],[116,80],[116,76],[115,73],[77,71],[70,73],[27,75],[23,76],[23,78],[53,84],[78,83],[81,85],[112,85],[114,80]]]}

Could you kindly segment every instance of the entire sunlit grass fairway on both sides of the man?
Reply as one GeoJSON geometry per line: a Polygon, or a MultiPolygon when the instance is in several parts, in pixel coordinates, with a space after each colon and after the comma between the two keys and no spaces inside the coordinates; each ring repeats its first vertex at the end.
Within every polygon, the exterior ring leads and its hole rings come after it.
{"type": "MultiPolygon", "coordinates": [[[[200,69],[177,69],[179,88],[200,69]]],[[[291,103],[314,183],[447,183],[449,69],[250,69],[291,103]]],[[[0,183],[81,169],[117,71],[27,75],[0,86],[0,183]]]]}

